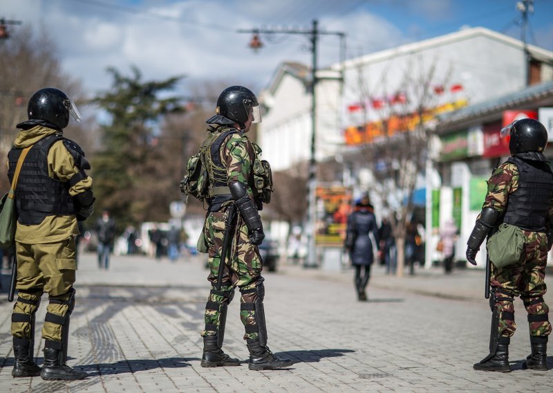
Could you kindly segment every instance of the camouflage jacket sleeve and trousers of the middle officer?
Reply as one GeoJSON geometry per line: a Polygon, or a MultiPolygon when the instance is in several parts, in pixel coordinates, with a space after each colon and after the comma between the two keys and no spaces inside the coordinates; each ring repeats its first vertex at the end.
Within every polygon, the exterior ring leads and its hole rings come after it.
{"type": "MultiPolygon", "coordinates": [[[[225,131],[226,127],[219,127],[216,132],[225,131]]],[[[258,154],[261,149],[254,145],[245,135],[231,134],[226,138],[221,147],[221,161],[227,168],[229,183],[238,181],[247,184],[247,193],[253,198],[252,171],[254,164],[259,161],[258,154]]],[[[223,236],[225,235],[225,219],[227,218],[228,205],[232,201],[223,203],[221,210],[209,212],[205,220],[203,234],[208,248],[208,264],[210,274],[209,282],[213,289],[205,309],[205,330],[202,336],[214,336],[221,326],[221,305],[228,304],[234,295],[236,286],[241,291],[241,320],[245,327],[244,339],[258,337],[256,326],[254,302],[260,294],[257,289],[262,285],[262,262],[259,249],[248,239],[248,229],[241,214],[234,230],[229,257],[223,268],[223,285],[221,291],[215,289],[218,276],[219,262],[223,248],[223,236]],[[236,230],[237,229],[237,230],[236,230]]],[[[262,295],[261,295],[262,296],[262,295]]]]}

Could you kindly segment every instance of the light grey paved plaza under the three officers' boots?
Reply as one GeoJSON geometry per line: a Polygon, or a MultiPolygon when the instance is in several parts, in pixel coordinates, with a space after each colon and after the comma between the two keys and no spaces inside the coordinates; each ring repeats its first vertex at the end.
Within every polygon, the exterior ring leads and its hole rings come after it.
{"type": "MultiPolygon", "coordinates": [[[[400,280],[377,267],[369,301],[357,302],[350,270],[325,273],[283,266],[277,273],[265,273],[268,343],[294,365],[252,372],[247,369],[238,297],[229,306],[224,349],[244,364],[200,367],[199,332],[209,291],[203,259],[172,264],[167,259],[113,257],[110,270],[99,271],[95,256],[83,255],[68,364],[89,377],[69,383],[12,378],[11,304],[2,293],[0,391],[552,392],[553,370],[521,367],[529,338],[520,300],[518,331],[509,348],[514,372],[472,369],[488,347],[491,313],[487,301],[478,299],[482,274],[456,271],[444,277],[439,271],[420,271],[400,280]]],[[[553,304],[550,294],[547,299],[553,304]]],[[[46,302],[45,296],[37,313],[39,364],[46,302]]],[[[548,363],[553,368],[552,356],[548,363]]]]}

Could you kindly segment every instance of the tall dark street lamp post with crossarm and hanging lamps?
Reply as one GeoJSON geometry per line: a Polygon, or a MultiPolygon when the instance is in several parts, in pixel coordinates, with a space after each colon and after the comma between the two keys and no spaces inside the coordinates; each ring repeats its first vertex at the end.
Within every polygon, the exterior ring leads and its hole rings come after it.
{"type": "MultiPolygon", "coordinates": [[[[315,94],[315,87],[317,86],[317,44],[319,42],[319,35],[336,35],[340,38],[340,63],[344,62],[344,43],[346,33],[338,31],[326,31],[319,30],[319,23],[317,19],[312,21],[311,30],[300,30],[296,28],[292,29],[251,29],[251,30],[238,30],[238,33],[252,33],[253,37],[250,41],[250,48],[254,51],[258,51],[263,46],[259,34],[299,34],[307,35],[311,42],[311,142],[310,142],[310,158],[309,158],[309,181],[308,181],[308,253],[304,267],[317,267],[317,255],[315,249],[315,223],[317,221],[317,205],[315,199],[315,192],[317,190],[317,156],[316,156],[316,143],[317,143],[317,95],[315,94]]],[[[341,80],[344,80],[343,68],[341,80]]]]}

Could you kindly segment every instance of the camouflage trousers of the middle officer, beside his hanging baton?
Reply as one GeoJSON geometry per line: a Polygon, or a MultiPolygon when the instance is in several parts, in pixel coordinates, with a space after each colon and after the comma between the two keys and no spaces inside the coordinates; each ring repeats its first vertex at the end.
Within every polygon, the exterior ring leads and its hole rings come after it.
{"type": "MultiPolygon", "coordinates": [[[[263,277],[261,277],[262,262],[259,249],[250,243],[247,237],[247,226],[239,212],[236,212],[236,225],[233,227],[232,245],[223,267],[221,291],[216,290],[219,264],[223,250],[223,235],[225,235],[225,219],[227,208],[218,212],[210,212],[203,228],[208,248],[209,277],[212,291],[205,306],[205,330],[202,336],[215,336],[221,330],[221,307],[229,304],[238,286],[241,292],[240,318],[245,327],[244,340],[257,338],[258,329],[255,320],[254,302],[257,298],[263,300],[263,277]]],[[[224,327],[223,327],[224,329],[224,327]]]]}

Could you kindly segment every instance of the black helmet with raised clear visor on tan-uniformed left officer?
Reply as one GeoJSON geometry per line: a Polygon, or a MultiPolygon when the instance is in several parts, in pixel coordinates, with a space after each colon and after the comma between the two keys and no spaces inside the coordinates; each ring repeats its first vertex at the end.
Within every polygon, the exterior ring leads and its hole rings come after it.
{"type": "Polygon", "coordinates": [[[81,120],[79,110],[66,93],[52,87],[33,94],[27,107],[29,120],[44,120],[58,129],[67,127],[69,113],[77,122],[81,120]]]}

